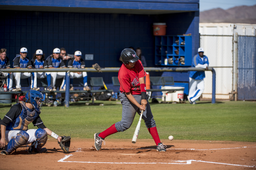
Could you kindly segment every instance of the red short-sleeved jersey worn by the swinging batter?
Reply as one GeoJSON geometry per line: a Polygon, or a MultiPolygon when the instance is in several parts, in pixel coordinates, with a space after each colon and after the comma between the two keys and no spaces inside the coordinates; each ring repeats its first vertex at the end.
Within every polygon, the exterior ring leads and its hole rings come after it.
{"type": "Polygon", "coordinates": [[[141,94],[139,78],[145,77],[146,75],[140,60],[135,62],[133,68],[127,68],[122,64],[118,72],[120,91],[126,93],[131,92],[131,94],[141,94]]]}

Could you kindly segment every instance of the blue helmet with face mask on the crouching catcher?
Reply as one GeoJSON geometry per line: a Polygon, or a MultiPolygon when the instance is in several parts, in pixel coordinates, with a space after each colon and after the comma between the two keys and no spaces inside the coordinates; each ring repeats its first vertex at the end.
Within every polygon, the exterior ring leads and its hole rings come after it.
{"type": "Polygon", "coordinates": [[[26,102],[31,103],[36,111],[41,112],[44,100],[44,95],[41,92],[38,92],[36,90],[29,90],[26,93],[24,99],[26,100],[26,102]]]}

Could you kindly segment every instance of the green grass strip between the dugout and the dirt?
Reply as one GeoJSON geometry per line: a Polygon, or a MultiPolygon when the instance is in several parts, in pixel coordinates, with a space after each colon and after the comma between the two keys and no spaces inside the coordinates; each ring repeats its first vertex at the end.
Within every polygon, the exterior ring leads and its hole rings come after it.
{"type": "MultiPolygon", "coordinates": [[[[100,101],[96,101],[100,102],[100,101]]],[[[85,103],[64,106],[43,106],[40,117],[46,127],[58,135],[75,138],[93,138],[121,120],[122,105],[102,102],[104,106],[86,106],[85,103]]],[[[256,102],[224,101],[211,104],[150,104],[160,139],[221,140],[256,142],[256,102]]],[[[10,105],[0,104],[0,117],[9,111],[10,105]]],[[[109,136],[112,139],[132,139],[138,123],[137,114],[130,129],[109,136]]],[[[30,123],[29,128],[34,128],[30,123]]],[[[152,138],[144,122],[139,139],[152,138]]]]}

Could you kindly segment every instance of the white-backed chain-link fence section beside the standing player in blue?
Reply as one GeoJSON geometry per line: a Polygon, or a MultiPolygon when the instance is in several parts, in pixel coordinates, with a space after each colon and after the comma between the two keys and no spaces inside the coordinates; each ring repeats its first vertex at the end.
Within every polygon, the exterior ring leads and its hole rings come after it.
{"type": "MultiPolygon", "coordinates": [[[[200,47],[216,71],[216,100],[230,100],[233,91],[233,36],[200,35],[200,47]]],[[[212,72],[205,72],[202,99],[212,98],[212,72]]]]}

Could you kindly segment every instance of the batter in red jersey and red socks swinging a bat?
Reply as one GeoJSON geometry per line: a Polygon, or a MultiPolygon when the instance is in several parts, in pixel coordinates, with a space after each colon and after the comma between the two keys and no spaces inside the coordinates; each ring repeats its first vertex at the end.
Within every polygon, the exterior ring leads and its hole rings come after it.
{"type": "Polygon", "coordinates": [[[156,129],[156,122],[153,118],[150,105],[146,98],[145,79],[146,72],[142,66],[139,57],[132,49],[124,49],[121,53],[122,66],[118,72],[118,80],[120,82],[119,98],[122,103],[122,120],[115,123],[105,131],[94,134],[94,147],[100,150],[104,139],[117,132],[123,132],[132,125],[135,114],[141,113],[143,110],[142,119],[152,135],[156,150],[165,152],[166,147],[160,142],[158,132],[156,129]]]}

